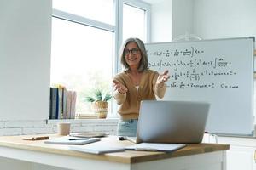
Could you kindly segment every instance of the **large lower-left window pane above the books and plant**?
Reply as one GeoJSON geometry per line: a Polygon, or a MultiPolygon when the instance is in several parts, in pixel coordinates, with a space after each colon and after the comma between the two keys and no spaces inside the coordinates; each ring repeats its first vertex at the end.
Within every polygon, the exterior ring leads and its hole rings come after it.
{"type": "Polygon", "coordinates": [[[88,112],[84,95],[111,89],[113,32],[53,18],[52,37],[51,82],[77,91],[76,110],[88,112]]]}

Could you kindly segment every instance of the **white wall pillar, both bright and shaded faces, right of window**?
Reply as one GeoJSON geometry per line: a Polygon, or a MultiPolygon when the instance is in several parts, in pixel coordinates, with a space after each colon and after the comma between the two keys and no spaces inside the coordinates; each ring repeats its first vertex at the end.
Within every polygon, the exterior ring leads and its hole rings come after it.
{"type": "Polygon", "coordinates": [[[152,4],[152,42],[172,42],[172,39],[193,33],[194,0],[162,0],[152,4]]]}

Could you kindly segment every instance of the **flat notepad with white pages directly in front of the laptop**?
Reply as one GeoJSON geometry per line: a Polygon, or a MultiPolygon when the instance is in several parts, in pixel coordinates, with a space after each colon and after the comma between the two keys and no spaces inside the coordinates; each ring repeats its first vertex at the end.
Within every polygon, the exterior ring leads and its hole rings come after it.
{"type": "Polygon", "coordinates": [[[143,151],[164,151],[172,152],[185,147],[186,144],[163,144],[163,143],[140,143],[126,146],[125,150],[143,150],[143,151]]]}

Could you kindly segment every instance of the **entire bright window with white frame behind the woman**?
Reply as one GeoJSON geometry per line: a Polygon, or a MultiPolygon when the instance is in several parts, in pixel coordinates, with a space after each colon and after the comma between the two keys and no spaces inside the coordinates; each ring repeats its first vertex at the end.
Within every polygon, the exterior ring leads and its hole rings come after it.
{"type": "MultiPolygon", "coordinates": [[[[148,5],[132,2],[53,0],[50,82],[77,92],[76,113],[92,112],[84,102],[92,89],[112,91],[113,75],[120,71],[122,41],[127,37],[148,41],[148,5]],[[137,29],[131,29],[135,25],[137,29]]],[[[114,104],[109,105],[112,116],[116,116],[114,104]]]]}

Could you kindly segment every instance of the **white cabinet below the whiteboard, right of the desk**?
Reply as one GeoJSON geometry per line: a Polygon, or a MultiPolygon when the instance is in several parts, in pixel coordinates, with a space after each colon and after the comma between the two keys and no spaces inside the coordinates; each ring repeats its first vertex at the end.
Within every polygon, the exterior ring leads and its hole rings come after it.
{"type": "Polygon", "coordinates": [[[230,144],[227,170],[256,170],[256,138],[215,137],[207,134],[204,142],[230,144]]]}

